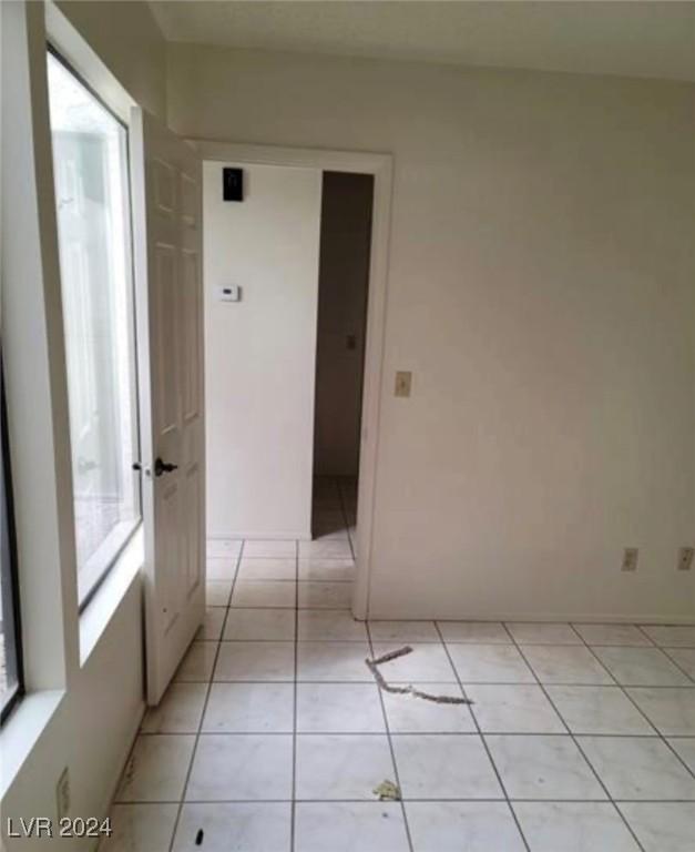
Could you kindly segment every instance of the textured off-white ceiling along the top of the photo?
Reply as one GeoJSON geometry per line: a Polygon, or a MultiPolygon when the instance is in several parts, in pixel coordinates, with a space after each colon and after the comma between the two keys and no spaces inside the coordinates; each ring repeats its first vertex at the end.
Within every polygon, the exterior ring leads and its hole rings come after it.
{"type": "Polygon", "coordinates": [[[695,2],[150,3],[168,41],[695,81],[695,2]]]}

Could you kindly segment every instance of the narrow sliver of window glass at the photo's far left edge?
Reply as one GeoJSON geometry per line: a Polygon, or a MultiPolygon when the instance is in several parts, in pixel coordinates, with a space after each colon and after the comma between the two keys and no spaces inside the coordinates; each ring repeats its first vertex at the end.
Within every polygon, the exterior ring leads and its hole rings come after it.
{"type": "Polygon", "coordinates": [[[0,712],[4,716],[21,688],[19,640],[19,601],[17,599],[17,548],[11,513],[9,444],[4,395],[0,403],[2,417],[2,462],[0,468],[0,712]]]}

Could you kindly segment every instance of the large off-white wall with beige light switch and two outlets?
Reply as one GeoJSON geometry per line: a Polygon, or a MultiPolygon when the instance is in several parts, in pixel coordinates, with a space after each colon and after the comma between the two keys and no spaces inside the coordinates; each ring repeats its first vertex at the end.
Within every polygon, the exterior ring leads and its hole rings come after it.
{"type": "Polygon", "coordinates": [[[395,155],[372,615],[693,618],[694,94],[171,47],[180,133],[395,155]]]}

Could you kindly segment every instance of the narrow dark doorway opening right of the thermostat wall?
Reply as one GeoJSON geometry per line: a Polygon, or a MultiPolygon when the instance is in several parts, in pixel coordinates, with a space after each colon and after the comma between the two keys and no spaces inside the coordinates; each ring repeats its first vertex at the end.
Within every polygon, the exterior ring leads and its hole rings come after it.
{"type": "Polygon", "coordinates": [[[311,536],[346,541],[352,558],[372,209],[374,175],[323,173],[311,536]]]}

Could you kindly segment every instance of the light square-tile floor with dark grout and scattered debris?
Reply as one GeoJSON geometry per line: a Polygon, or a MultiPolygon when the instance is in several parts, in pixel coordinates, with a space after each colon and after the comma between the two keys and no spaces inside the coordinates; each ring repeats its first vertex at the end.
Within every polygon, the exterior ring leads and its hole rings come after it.
{"type": "Polygon", "coordinates": [[[695,627],[358,623],[354,493],[317,505],[330,546],[211,542],[208,617],[102,849],[695,850],[695,627]],[[405,642],[387,679],[473,704],[381,693],[365,658],[405,642]]]}

